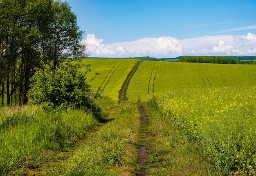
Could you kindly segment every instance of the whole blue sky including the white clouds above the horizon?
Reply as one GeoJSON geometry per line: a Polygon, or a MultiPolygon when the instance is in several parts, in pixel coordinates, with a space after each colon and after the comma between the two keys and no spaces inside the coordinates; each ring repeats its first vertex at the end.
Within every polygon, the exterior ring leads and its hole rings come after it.
{"type": "Polygon", "coordinates": [[[66,1],[91,57],[256,56],[256,0],[66,1]]]}

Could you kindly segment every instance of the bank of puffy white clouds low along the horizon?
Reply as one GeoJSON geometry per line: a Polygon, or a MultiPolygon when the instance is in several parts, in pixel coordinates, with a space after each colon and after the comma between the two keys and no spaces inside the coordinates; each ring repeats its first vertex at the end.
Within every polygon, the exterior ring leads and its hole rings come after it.
{"type": "Polygon", "coordinates": [[[92,57],[256,56],[256,35],[253,33],[247,36],[218,35],[184,40],[164,36],[107,45],[103,39],[88,34],[83,42],[88,43],[92,57]]]}

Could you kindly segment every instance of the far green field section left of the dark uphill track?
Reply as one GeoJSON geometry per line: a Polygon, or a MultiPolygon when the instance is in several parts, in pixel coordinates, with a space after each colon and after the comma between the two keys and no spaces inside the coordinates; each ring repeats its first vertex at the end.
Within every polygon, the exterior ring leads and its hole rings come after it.
{"type": "Polygon", "coordinates": [[[92,72],[88,74],[88,80],[96,72],[101,73],[91,82],[92,89],[119,100],[119,91],[128,74],[139,60],[135,59],[83,59],[83,63],[91,64],[92,72]]]}

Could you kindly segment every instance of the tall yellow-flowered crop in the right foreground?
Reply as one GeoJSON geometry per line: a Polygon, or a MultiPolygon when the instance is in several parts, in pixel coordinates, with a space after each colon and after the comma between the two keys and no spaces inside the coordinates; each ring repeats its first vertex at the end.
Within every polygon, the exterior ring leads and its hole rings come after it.
{"type": "Polygon", "coordinates": [[[216,175],[256,174],[255,86],[173,91],[157,102],[201,143],[216,175]]]}

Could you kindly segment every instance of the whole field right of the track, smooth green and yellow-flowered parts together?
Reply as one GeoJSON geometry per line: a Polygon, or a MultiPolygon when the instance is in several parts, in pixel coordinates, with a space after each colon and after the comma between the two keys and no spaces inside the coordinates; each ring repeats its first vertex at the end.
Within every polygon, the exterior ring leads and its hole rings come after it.
{"type": "Polygon", "coordinates": [[[144,61],[131,79],[127,97],[145,102],[155,95],[162,114],[177,120],[189,138],[203,146],[215,163],[215,175],[255,175],[255,69],[144,61]]]}

